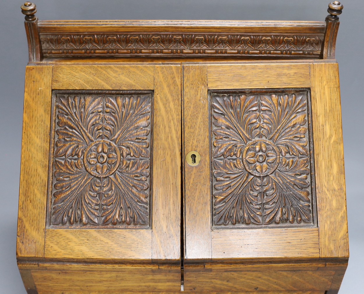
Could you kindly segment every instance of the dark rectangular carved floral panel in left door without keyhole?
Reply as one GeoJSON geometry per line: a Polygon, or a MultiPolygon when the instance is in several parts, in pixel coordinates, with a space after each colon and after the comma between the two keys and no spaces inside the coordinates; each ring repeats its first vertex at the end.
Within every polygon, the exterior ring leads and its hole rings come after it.
{"type": "Polygon", "coordinates": [[[149,227],[152,98],[54,91],[49,225],[149,227]]]}

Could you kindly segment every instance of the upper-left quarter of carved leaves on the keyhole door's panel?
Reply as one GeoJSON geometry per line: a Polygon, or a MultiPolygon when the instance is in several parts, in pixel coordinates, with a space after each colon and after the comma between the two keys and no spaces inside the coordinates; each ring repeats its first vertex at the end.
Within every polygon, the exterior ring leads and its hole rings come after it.
{"type": "Polygon", "coordinates": [[[247,142],[258,127],[258,103],[246,95],[214,95],[212,97],[214,157],[223,155],[240,157],[247,142]]]}

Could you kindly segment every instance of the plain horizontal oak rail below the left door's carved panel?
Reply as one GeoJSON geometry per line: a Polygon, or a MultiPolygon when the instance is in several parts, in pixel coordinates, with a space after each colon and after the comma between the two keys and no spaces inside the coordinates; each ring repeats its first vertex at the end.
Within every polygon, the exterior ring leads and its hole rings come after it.
{"type": "Polygon", "coordinates": [[[46,230],[46,258],[151,258],[151,230],[46,230]]]}

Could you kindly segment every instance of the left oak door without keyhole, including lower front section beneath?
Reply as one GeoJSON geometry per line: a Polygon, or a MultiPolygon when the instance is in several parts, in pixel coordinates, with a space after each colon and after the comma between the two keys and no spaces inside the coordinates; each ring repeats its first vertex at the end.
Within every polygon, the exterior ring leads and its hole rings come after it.
{"type": "Polygon", "coordinates": [[[27,67],[17,257],[39,293],[180,289],[180,95],[179,65],[27,67]]]}

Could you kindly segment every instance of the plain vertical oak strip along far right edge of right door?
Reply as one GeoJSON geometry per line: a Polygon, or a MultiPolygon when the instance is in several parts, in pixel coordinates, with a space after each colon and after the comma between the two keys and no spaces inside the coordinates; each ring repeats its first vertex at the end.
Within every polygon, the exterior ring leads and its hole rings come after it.
{"type": "Polygon", "coordinates": [[[339,68],[312,64],[311,73],[320,257],[349,257],[339,68]]]}

